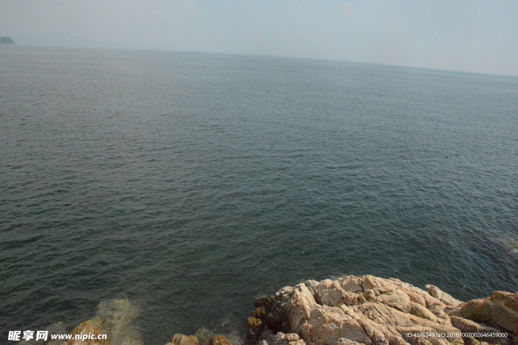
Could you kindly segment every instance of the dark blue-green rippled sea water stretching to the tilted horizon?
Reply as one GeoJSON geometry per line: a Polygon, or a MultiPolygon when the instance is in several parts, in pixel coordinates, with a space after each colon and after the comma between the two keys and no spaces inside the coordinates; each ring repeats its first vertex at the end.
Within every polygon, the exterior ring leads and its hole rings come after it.
{"type": "Polygon", "coordinates": [[[0,324],[130,298],[146,344],[372,274],[518,290],[518,78],[0,47],[0,324]]]}

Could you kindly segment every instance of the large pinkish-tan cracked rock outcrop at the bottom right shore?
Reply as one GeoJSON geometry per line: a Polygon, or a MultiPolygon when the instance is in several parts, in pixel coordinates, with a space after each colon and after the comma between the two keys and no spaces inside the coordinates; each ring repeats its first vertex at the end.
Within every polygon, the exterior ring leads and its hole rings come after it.
{"type": "Polygon", "coordinates": [[[495,292],[462,303],[435,286],[427,291],[373,276],[308,280],[257,299],[247,342],[261,345],[516,344],[518,294],[495,292]],[[257,321],[256,321],[257,320],[257,321]],[[462,332],[505,333],[471,337],[462,332]],[[429,336],[433,333],[434,336],[429,336]],[[440,336],[436,336],[439,334],[440,336]]]}

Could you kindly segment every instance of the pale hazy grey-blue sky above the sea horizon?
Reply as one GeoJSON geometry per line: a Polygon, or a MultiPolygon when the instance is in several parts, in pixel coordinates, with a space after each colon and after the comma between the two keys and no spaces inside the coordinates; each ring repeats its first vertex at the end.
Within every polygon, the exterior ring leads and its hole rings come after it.
{"type": "Polygon", "coordinates": [[[518,1],[0,0],[31,46],[294,56],[518,76],[518,1]]]}

